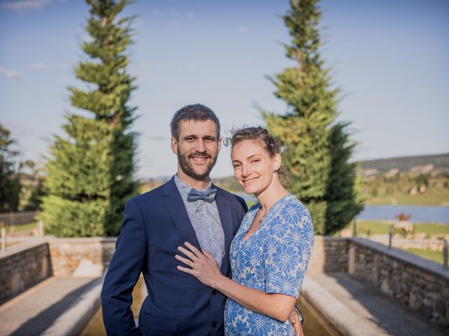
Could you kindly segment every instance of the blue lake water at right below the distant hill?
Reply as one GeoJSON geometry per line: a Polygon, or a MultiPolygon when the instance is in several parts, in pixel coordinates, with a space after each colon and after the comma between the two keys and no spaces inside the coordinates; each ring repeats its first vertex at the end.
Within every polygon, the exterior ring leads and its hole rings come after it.
{"type": "Polygon", "coordinates": [[[394,221],[403,212],[410,221],[449,224],[449,207],[420,207],[413,205],[366,205],[357,219],[394,221]]]}

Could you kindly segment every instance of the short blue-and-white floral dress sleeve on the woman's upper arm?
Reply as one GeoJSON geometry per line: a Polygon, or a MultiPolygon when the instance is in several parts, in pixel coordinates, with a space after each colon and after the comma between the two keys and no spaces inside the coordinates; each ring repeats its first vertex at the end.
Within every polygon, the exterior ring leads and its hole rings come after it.
{"type": "Polygon", "coordinates": [[[309,211],[299,202],[286,204],[269,226],[265,292],[298,297],[313,246],[309,211]]]}

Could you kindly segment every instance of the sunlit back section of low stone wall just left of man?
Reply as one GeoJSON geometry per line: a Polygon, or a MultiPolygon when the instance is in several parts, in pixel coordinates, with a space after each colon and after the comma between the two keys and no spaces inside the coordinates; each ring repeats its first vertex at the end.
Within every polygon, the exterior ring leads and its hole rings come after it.
{"type": "Polygon", "coordinates": [[[115,250],[116,238],[48,240],[55,276],[101,276],[115,250]]]}

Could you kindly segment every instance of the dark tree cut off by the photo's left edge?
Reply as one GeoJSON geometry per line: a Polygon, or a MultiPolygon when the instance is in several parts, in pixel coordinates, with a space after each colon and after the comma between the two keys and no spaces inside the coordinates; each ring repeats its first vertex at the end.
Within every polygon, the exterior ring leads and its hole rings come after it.
{"type": "Polygon", "coordinates": [[[0,123],[0,212],[17,211],[20,195],[18,151],[11,132],[0,123]]]}

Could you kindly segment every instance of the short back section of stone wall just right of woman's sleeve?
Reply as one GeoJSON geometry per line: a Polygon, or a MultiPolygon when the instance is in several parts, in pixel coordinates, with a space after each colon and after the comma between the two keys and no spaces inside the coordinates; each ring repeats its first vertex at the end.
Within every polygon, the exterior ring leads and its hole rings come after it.
{"type": "Polygon", "coordinates": [[[315,236],[308,273],[347,272],[348,239],[315,236]]]}

